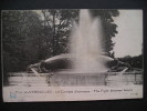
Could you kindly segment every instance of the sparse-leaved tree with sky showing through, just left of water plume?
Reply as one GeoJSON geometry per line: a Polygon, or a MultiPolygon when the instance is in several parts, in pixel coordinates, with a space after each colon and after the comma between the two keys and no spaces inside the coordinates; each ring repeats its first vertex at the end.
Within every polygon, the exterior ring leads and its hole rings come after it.
{"type": "Polygon", "coordinates": [[[44,32],[46,29],[50,31],[45,34],[49,41],[44,41],[52,53],[49,57],[56,56],[60,53],[69,52],[69,37],[72,29],[73,19],[76,20],[78,17],[78,10],[63,10],[63,9],[51,9],[42,10],[44,18],[44,32]]]}

